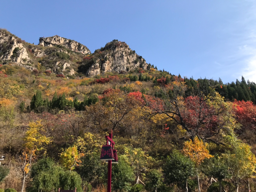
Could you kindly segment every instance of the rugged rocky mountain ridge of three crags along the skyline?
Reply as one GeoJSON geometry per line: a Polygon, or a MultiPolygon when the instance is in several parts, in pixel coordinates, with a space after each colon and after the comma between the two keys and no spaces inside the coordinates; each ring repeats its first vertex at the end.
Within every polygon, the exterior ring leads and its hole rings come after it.
{"type": "Polygon", "coordinates": [[[34,45],[4,29],[0,29],[0,64],[15,64],[32,71],[43,68],[56,74],[88,77],[151,67],[125,42],[118,40],[107,43],[92,54],[87,46],[58,35],[40,37],[39,45],[34,45]]]}

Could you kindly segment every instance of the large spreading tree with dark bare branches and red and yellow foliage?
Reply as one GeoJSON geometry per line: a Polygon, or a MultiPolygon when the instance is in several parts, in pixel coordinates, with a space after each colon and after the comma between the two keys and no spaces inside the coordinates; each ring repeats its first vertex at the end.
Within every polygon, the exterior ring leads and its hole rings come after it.
{"type": "Polygon", "coordinates": [[[220,144],[216,140],[221,136],[220,131],[229,134],[236,127],[232,104],[224,102],[224,99],[212,89],[208,94],[206,86],[202,86],[199,96],[185,98],[186,90],[185,82],[174,81],[155,93],[156,97],[162,99],[159,105],[155,106],[152,101],[146,99],[147,106],[152,110],[149,118],[156,114],[165,114],[176,124],[181,125],[189,133],[190,139],[193,140],[197,136],[220,144]],[[207,95],[202,94],[203,92],[207,95]],[[213,136],[216,136],[216,139],[213,139],[213,136]]]}

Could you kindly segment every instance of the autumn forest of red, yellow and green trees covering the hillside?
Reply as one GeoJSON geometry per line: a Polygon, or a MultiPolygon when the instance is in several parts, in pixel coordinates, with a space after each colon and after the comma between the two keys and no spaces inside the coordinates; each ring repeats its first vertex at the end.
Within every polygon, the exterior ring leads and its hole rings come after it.
{"type": "Polygon", "coordinates": [[[136,68],[67,78],[0,65],[0,192],[256,191],[256,84],[136,68]]]}

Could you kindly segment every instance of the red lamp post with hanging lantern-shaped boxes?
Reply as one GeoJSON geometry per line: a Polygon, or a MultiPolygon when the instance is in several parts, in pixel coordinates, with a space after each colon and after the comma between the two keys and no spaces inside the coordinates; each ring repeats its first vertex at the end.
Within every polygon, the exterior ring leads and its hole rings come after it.
{"type": "Polygon", "coordinates": [[[108,161],[108,192],[111,192],[111,173],[112,163],[118,163],[117,151],[114,149],[115,142],[113,141],[113,131],[105,136],[107,145],[101,148],[101,160],[108,161]],[[114,150],[113,150],[114,149],[114,150]]]}

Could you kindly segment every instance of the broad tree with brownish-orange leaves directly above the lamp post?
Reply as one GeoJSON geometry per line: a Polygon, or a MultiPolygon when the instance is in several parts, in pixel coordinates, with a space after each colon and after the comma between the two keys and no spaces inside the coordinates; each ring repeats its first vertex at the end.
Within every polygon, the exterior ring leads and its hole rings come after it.
{"type": "Polygon", "coordinates": [[[104,131],[127,128],[142,116],[143,103],[140,92],[125,94],[120,89],[107,89],[99,102],[86,107],[84,119],[89,121],[86,126],[104,131]]]}

